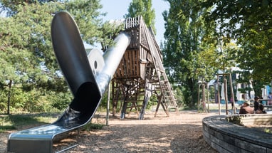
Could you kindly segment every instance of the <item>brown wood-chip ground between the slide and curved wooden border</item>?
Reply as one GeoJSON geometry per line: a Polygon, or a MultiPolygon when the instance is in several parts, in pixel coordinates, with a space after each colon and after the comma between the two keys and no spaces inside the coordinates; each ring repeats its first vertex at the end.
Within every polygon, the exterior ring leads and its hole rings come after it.
{"type": "MultiPolygon", "coordinates": [[[[216,152],[204,141],[202,119],[216,113],[197,111],[147,112],[145,120],[137,114],[126,115],[124,120],[110,116],[109,125],[101,130],[80,130],[79,145],[66,152],[216,152]]],[[[105,124],[105,114],[97,113],[95,123],[105,124]]],[[[0,152],[6,152],[11,132],[0,134],[0,152]]],[[[69,141],[64,139],[63,141],[69,141]]],[[[56,147],[57,150],[61,147],[56,147]]]]}

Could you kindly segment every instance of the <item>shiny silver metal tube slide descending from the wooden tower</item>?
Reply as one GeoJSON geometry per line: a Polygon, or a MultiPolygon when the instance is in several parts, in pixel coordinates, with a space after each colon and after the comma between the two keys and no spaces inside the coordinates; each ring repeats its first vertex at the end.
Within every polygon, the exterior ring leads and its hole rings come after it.
{"type": "Polygon", "coordinates": [[[74,95],[73,101],[56,122],[10,134],[9,152],[53,152],[54,137],[90,122],[130,43],[130,37],[120,33],[115,45],[103,55],[95,50],[90,53],[93,56],[87,57],[75,21],[63,11],[53,17],[51,36],[58,64],[74,95]]]}

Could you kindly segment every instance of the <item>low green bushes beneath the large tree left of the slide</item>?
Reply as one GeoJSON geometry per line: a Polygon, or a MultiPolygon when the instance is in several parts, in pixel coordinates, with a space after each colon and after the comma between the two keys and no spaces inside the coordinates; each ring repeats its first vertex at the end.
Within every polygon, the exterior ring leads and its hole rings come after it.
{"type": "MultiPolygon", "coordinates": [[[[5,94],[7,92],[1,92],[5,94]]],[[[8,95],[1,96],[1,112],[6,112],[8,95]]],[[[71,102],[70,93],[56,93],[53,91],[31,90],[24,92],[21,88],[11,88],[11,113],[23,112],[51,112],[65,109],[71,102]]]]}

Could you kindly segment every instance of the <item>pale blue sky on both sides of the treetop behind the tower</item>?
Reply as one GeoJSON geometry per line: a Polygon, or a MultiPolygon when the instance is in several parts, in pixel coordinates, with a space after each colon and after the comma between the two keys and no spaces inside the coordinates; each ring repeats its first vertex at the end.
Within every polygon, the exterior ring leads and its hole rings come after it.
{"type": "MultiPolygon", "coordinates": [[[[101,12],[108,13],[103,20],[110,21],[115,19],[124,19],[123,16],[127,14],[128,6],[132,0],[100,0],[100,4],[103,5],[101,12]]],[[[155,28],[157,30],[156,41],[159,44],[164,41],[164,19],[162,12],[169,10],[169,4],[163,0],[152,0],[152,8],[155,9],[155,28]]]]}

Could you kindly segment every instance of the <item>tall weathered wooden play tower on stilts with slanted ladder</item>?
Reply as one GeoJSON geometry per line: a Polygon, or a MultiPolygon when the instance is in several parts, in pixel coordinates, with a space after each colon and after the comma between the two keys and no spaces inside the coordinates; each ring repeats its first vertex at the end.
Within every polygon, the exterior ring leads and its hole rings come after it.
{"type": "Polygon", "coordinates": [[[130,35],[130,45],[112,80],[113,115],[120,103],[120,118],[135,109],[142,120],[147,102],[152,94],[157,96],[157,111],[161,105],[169,115],[169,107],[177,110],[172,87],[162,65],[162,52],[155,41],[152,29],[147,28],[142,17],[126,19],[125,32],[130,35]]]}

